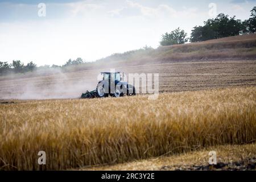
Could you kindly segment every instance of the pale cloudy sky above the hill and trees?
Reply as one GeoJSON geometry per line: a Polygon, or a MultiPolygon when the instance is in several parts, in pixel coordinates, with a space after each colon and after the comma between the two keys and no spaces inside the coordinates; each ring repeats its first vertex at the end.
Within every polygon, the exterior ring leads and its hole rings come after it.
{"type": "Polygon", "coordinates": [[[253,6],[256,0],[0,0],[0,61],[63,65],[157,48],[165,32],[180,27],[189,36],[219,13],[248,19],[253,6]]]}

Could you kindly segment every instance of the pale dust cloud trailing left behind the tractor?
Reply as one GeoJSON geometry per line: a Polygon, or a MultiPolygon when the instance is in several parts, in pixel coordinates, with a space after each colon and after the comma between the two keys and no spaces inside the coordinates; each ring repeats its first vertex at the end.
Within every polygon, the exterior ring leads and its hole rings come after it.
{"type": "Polygon", "coordinates": [[[97,72],[63,73],[60,69],[34,72],[31,77],[0,81],[0,99],[43,100],[79,98],[97,85],[97,72]],[[94,76],[96,75],[96,76],[94,76]]]}

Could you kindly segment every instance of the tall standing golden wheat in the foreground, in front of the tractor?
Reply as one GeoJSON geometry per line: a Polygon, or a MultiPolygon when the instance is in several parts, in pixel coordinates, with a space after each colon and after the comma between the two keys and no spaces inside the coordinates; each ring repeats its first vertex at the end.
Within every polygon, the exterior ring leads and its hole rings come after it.
{"type": "Polygon", "coordinates": [[[256,87],[0,104],[0,169],[70,169],[256,139],[256,87]]]}

